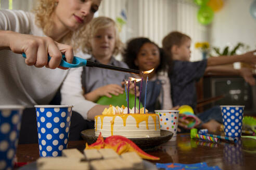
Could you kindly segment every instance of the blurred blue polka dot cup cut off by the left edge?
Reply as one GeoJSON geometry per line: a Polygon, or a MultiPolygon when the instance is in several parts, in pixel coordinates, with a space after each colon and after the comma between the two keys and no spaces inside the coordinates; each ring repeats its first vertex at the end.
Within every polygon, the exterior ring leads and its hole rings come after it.
{"type": "Polygon", "coordinates": [[[0,169],[12,169],[23,106],[0,105],[0,169]]]}

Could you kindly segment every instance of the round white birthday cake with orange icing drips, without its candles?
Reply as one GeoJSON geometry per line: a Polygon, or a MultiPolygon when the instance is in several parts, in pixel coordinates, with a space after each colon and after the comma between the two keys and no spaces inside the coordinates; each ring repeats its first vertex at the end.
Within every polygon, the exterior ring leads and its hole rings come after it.
{"type": "MultiPolygon", "coordinates": [[[[146,109],[145,109],[146,110],[146,109]]],[[[144,108],[110,106],[102,115],[95,116],[95,136],[121,135],[127,138],[160,136],[159,116],[144,113],[144,108]],[[128,114],[129,113],[129,114],[128,114]],[[140,113],[140,114],[138,114],[140,113]]]]}

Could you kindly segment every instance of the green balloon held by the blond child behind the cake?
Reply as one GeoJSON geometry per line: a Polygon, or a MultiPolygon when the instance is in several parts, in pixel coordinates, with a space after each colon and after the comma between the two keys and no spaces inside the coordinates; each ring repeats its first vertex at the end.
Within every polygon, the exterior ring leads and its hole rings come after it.
{"type": "MultiPolygon", "coordinates": [[[[133,108],[135,104],[135,95],[134,94],[129,94],[129,107],[133,108]]],[[[119,106],[121,107],[124,105],[127,107],[127,102],[126,102],[126,94],[119,94],[119,95],[112,95],[112,97],[107,97],[107,96],[102,96],[99,98],[99,100],[96,102],[97,104],[100,105],[113,105],[113,106],[119,106]]],[[[139,100],[136,98],[136,107],[137,109],[139,108],[139,100]]],[[[140,108],[142,108],[143,105],[140,103],[140,108]]]]}

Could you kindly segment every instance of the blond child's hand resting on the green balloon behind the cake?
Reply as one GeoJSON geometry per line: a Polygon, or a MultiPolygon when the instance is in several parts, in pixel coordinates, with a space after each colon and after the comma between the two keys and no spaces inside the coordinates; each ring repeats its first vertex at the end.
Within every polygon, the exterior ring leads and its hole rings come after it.
{"type": "Polygon", "coordinates": [[[107,97],[112,97],[111,94],[119,95],[123,93],[123,91],[124,89],[118,84],[108,84],[106,86],[100,87],[98,89],[95,89],[94,91],[84,94],[84,97],[88,101],[96,102],[101,96],[105,95],[107,97]]]}

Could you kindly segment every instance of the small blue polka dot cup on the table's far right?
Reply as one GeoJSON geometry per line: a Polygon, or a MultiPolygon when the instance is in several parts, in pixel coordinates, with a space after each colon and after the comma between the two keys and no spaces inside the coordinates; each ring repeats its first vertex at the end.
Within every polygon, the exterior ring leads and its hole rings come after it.
{"type": "Polygon", "coordinates": [[[245,106],[221,106],[225,136],[240,137],[245,106]]]}

